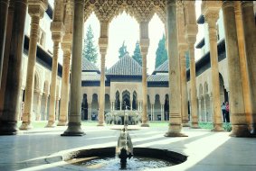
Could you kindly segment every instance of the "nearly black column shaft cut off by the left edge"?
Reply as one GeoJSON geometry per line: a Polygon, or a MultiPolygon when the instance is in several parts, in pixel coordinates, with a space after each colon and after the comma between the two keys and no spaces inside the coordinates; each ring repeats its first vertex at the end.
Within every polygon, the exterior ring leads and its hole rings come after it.
{"type": "Polygon", "coordinates": [[[13,20],[14,20],[14,0],[10,1],[8,7],[8,16],[7,16],[7,26],[5,31],[5,53],[3,58],[3,68],[2,68],[2,77],[0,85],[0,117],[4,111],[4,102],[5,102],[5,85],[7,79],[7,70],[10,54],[10,45],[12,38],[12,29],[13,29],[13,20]]]}

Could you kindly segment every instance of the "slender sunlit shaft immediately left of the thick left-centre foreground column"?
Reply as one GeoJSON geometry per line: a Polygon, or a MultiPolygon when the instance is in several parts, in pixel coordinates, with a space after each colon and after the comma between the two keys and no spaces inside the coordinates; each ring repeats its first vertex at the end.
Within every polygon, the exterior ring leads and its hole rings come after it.
{"type": "Polygon", "coordinates": [[[61,110],[58,126],[65,126],[68,120],[71,50],[63,50],[61,110]]]}

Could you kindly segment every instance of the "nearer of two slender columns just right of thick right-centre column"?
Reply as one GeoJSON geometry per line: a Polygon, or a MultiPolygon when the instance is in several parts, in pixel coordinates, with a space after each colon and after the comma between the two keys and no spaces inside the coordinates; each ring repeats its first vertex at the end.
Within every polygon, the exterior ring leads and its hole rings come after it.
{"type": "Polygon", "coordinates": [[[198,110],[196,100],[196,79],[195,79],[195,62],[194,62],[194,42],[198,31],[195,20],[195,7],[194,1],[185,1],[186,11],[186,24],[185,24],[185,37],[188,43],[189,52],[189,65],[190,65],[190,89],[191,89],[191,128],[197,129],[198,127],[198,110]]]}

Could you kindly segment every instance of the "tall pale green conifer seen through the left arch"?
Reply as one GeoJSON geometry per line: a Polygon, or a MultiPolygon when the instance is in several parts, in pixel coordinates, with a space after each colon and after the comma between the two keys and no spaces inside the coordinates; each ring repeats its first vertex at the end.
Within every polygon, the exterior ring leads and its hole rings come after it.
{"type": "Polygon", "coordinates": [[[86,32],[86,36],[83,40],[83,49],[82,49],[82,56],[87,58],[90,62],[96,63],[98,59],[98,52],[96,46],[94,46],[93,40],[93,32],[89,25],[88,30],[86,32]]]}

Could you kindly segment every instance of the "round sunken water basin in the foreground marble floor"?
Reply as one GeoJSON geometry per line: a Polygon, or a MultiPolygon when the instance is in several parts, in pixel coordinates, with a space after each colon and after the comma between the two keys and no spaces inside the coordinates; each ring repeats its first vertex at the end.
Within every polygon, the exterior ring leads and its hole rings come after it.
{"type": "MultiPolygon", "coordinates": [[[[186,156],[159,148],[133,148],[134,157],[128,159],[127,170],[164,168],[185,162],[186,156]]],[[[63,160],[73,166],[88,170],[121,170],[116,148],[90,148],[73,151],[63,156],[63,160]]]]}

